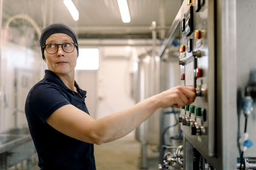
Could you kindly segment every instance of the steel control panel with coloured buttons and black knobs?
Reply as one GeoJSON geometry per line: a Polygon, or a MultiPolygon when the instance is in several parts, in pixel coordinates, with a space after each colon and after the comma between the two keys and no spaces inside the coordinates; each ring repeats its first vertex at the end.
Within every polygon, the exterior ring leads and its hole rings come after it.
{"type": "Polygon", "coordinates": [[[184,137],[214,156],[214,9],[208,0],[184,1],[180,13],[180,83],[195,87],[195,102],[180,108],[184,137]],[[211,8],[209,8],[211,6],[211,8]]]}

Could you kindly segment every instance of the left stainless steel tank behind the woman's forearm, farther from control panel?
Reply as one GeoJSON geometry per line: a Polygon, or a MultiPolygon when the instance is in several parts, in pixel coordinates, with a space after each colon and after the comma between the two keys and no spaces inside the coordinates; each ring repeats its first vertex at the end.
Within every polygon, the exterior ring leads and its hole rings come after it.
{"type": "MultiPolygon", "coordinates": [[[[134,72],[136,103],[159,92],[159,57],[151,57],[152,51],[141,54],[134,72]],[[152,59],[154,58],[154,59],[152,59]],[[154,71],[152,71],[154,67],[154,71]]],[[[136,129],[136,139],[141,143],[159,144],[160,111],[157,110],[148,120],[136,129]]]]}

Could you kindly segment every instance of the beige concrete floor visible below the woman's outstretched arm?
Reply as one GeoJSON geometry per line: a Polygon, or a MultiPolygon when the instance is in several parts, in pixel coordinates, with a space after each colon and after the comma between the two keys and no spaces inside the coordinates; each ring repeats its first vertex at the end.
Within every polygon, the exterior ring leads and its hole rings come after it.
{"type": "MultiPolygon", "coordinates": [[[[157,146],[148,146],[148,170],[158,169],[157,146]]],[[[134,138],[134,132],[124,138],[95,145],[97,170],[139,170],[140,143],[134,138]]]]}

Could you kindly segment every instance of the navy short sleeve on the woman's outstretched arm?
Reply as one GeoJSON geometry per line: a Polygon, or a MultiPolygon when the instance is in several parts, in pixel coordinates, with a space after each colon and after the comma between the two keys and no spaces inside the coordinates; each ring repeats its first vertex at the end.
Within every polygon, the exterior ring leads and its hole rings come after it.
{"type": "Polygon", "coordinates": [[[58,108],[70,104],[68,97],[55,85],[39,84],[31,89],[28,99],[31,116],[38,117],[44,123],[58,108]]]}

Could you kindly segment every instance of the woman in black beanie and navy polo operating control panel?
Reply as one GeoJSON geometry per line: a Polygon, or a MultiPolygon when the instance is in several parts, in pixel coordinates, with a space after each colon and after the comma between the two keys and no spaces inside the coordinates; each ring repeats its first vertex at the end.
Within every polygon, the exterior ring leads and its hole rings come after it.
{"type": "Polygon", "coordinates": [[[99,120],[90,117],[74,80],[77,36],[63,24],[46,27],[40,37],[45,78],[29,91],[26,117],[41,169],[96,169],[93,144],[122,138],[158,108],[184,106],[195,99],[193,87],[175,87],[99,120]]]}

